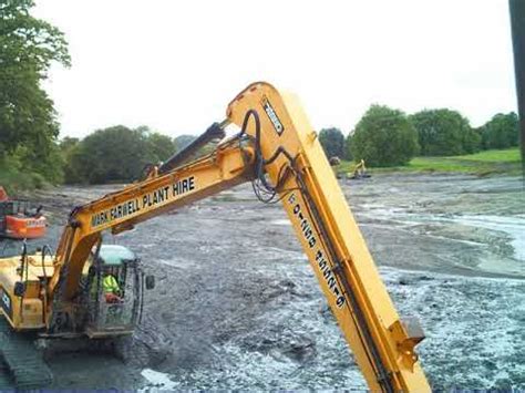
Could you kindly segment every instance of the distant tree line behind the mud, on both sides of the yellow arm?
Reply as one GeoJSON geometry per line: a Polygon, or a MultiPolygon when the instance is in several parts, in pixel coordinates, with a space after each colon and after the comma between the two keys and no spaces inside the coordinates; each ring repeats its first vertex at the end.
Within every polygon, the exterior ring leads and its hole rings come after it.
{"type": "MultiPolygon", "coordinates": [[[[151,164],[164,162],[195,136],[176,138],[147,126],[97,130],[83,139],[64,137],[59,144],[65,183],[133,182],[151,164]]],[[[323,128],[319,139],[328,157],[361,158],[369,166],[405,165],[415,155],[453,156],[518,144],[515,113],[497,114],[478,128],[459,112],[423,110],[412,115],[372,105],[347,137],[323,128]]]]}

